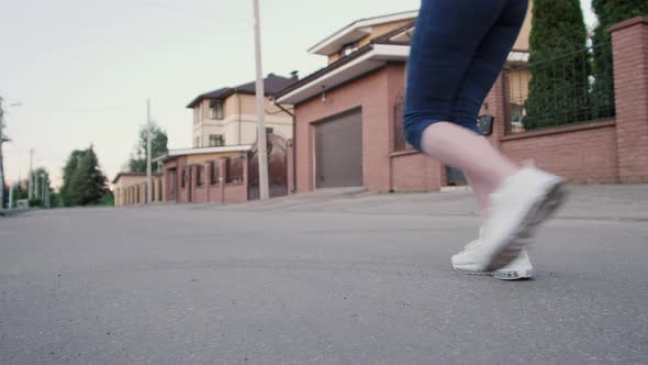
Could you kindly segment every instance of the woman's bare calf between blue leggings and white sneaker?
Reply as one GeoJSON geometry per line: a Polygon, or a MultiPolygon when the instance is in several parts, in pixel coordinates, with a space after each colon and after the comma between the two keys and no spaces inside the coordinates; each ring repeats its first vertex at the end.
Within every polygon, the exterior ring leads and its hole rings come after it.
{"type": "Polygon", "coordinates": [[[489,196],[519,166],[498,152],[483,137],[455,123],[434,123],[421,140],[423,152],[461,169],[469,178],[482,209],[490,207],[489,196]]]}

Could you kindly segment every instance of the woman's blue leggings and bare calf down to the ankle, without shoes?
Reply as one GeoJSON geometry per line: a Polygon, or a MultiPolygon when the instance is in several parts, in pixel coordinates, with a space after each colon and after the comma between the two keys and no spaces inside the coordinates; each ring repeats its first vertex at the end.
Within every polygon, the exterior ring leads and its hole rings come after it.
{"type": "Polygon", "coordinates": [[[460,168],[482,215],[490,193],[518,167],[480,136],[477,114],[517,37],[526,7],[526,0],[424,0],[412,42],[405,111],[410,143],[460,168]],[[448,37],[450,32],[455,36],[448,37]]]}

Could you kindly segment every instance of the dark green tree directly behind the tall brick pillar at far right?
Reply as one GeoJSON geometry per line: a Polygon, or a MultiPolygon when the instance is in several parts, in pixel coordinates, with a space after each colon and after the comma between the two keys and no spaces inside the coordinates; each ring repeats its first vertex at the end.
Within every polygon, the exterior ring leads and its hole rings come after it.
{"type": "Polygon", "coordinates": [[[612,25],[634,16],[648,16],[646,0],[593,0],[592,8],[599,19],[592,44],[593,76],[592,101],[596,107],[595,118],[608,118],[615,114],[614,104],[614,64],[608,30],[612,25]]]}

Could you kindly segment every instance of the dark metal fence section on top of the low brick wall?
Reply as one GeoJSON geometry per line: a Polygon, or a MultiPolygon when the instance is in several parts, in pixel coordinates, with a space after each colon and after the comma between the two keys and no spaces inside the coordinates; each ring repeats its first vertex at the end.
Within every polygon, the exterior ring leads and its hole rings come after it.
{"type": "Polygon", "coordinates": [[[510,67],[504,77],[509,133],[615,115],[611,43],[510,67]]]}

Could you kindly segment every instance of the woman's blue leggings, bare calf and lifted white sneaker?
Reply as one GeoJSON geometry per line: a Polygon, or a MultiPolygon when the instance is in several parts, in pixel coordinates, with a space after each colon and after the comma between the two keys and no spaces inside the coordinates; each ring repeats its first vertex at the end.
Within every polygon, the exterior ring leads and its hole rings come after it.
{"type": "Polygon", "coordinates": [[[526,0],[423,0],[416,23],[405,137],[463,170],[479,186],[482,207],[492,204],[480,240],[453,256],[456,269],[495,270],[512,263],[533,230],[563,200],[559,177],[521,169],[481,137],[477,126],[477,113],[506,62],[526,7],[526,0]]]}

